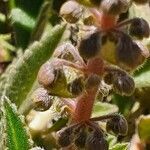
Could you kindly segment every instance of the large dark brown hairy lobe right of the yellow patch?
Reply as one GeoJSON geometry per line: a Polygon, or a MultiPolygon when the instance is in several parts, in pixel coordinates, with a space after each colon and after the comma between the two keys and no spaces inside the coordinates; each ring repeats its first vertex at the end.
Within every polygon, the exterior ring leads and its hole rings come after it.
{"type": "Polygon", "coordinates": [[[116,59],[121,68],[135,70],[143,64],[145,56],[142,51],[141,47],[132,41],[131,37],[126,34],[119,35],[116,47],[116,59]]]}

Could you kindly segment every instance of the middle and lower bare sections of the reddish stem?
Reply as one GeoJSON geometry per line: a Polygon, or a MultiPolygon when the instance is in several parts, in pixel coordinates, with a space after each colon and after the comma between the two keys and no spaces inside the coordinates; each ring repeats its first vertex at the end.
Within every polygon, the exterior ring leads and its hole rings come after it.
{"type": "MultiPolygon", "coordinates": [[[[87,72],[90,74],[102,75],[104,72],[104,62],[101,58],[95,57],[87,62],[87,72]]],[[[92,114],[94,100],[99,86],[87,89],[82,95],[77,98],[76,108],[73,114],[73,122],[88,121],[92,114]]]]}

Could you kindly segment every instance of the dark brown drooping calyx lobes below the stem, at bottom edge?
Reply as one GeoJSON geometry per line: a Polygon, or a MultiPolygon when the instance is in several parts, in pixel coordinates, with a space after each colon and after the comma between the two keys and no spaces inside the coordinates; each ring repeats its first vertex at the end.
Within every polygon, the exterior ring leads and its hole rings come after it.
{"type": "Polygon", "coordinates": [[[108,150],[104,131],[95,123],[76,124],[62,129],[58,133],[58,143],[61,147],[75,145],[87,150],[108,150]]]}

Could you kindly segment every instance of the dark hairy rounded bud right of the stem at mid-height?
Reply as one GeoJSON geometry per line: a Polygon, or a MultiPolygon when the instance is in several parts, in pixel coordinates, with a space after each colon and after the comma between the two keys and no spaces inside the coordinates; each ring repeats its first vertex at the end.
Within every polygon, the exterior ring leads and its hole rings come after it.
{"type": "Polygon", "coordinates": [[[113,77],[113,89],[117,94],[130,96],[135,89],[134,80],[123,72],[118,72],[113,77]]]}

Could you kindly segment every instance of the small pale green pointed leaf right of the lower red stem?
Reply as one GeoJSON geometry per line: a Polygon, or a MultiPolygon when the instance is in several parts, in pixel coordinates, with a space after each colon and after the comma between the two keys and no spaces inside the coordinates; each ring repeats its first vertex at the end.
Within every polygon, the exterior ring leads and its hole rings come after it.
{"type": "Polygon", "coordinates": [[[117,111],[118,111],[118,107],[116,105],[112,105],[109,103],[96,102],[93,107],[92,117],[99,117],[102,115],[115,113],[117,111]]]}

